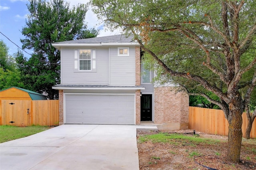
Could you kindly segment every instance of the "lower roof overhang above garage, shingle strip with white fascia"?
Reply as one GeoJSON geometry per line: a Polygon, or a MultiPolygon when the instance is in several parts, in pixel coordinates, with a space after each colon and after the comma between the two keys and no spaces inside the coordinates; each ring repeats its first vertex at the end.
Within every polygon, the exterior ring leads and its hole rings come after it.
{"type": "Polygon", "coordinates": [[[55,90],[145,90],[142,86],[110,86],[85,84],[59,84],[52,86],[55,90]]]}

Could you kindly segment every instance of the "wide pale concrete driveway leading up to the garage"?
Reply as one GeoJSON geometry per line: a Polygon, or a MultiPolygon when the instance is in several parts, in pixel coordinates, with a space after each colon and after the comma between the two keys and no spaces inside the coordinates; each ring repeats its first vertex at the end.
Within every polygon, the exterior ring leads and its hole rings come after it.
{"type": "Polygon", "coordinates": [[[0,144],[1,170],[139,170],[135,125],[61,125],[0,144]]]}

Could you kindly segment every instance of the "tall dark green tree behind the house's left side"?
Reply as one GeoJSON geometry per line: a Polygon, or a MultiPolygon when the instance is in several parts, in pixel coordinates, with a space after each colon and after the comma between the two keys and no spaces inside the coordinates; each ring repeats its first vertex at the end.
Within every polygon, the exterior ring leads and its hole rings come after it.
{"type": "Polygon", "coordinates": [[[91,38],[98,30],[87,29],[84,21],[88,6],[70,6],[63,0],[29,0],[28,18],[22,28],[23,49],[31,49],[32,56],[16,57],[22,80],[27,89],[44,93],[49,99],[58,98],[52,86],[60,83],[60,51],[52,43],[91,38]]]}

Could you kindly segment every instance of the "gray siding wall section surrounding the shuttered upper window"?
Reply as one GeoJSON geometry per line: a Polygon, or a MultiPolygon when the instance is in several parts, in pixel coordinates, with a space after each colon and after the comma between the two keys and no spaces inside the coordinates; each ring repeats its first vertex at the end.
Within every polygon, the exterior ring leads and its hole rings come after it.
{"type": "Polygon", "coordinates": [[[62,84],[108,84],[109,57],[108,47],[62,47],[61,83],[62,84]],[[75,49],[96,49],[96,72],[74,70],[75,49]]]}

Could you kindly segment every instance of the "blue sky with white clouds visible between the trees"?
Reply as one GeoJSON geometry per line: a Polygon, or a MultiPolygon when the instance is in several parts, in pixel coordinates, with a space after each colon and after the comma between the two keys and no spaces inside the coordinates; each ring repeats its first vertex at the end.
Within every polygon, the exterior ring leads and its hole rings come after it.
{"type": "MultiPolygon", "coordinates": [[[[64,0],[70,2],[70,5],[73,6],[78,3],[86,3],[89,0],[64,0]]],[[[22,27],[26,26],[26,16],[29,14],[26,4],[28,0],[0,0],[0,31],[11,41],[17,44],[19,47],[22,47],[20,39],[25,37],[22,35],[22,27]]],[[[100,29],[100,34],[98,37],[116,35],[120,34],[120,31],[111,32],[104,28],[103,23],[98,21],[96,15],[90,10],[86,13],[85,21],[87,22],[88,28],[95,27],[100,29]]],[[[9,41],[4,35],[0,34],[0,39],[6,43],[9,47],[9,54],[13,55],[17,52],[18,47],[9,41]]],[[[32,53],[28,49],[25,49],[28,53],[32,53]]],[[[23,52],[24,53],[24,52],[23,52]]],[[[24,53],[26,57],[30,57],[28,54],[24,53]]]]}

